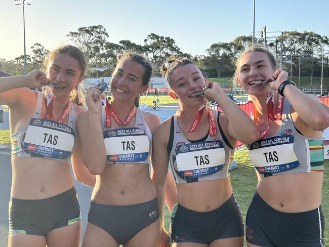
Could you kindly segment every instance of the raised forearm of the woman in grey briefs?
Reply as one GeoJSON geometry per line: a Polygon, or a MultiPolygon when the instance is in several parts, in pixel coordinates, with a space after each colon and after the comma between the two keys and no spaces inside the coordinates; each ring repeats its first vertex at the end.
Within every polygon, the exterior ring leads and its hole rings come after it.
{"type": "Polygon", "coordinates": [[[87,139],[83,145],[83,160],[89,171],[101,174],[106,162],[106,149],[103,141],[99,112],[88,112],[87,139]]]}

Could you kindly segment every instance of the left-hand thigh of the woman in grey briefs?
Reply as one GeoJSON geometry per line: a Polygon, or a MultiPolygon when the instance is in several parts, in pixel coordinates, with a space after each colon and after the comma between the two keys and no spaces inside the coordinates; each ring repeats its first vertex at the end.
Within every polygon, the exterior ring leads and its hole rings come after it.
{"type": "Polygon", "coordinates": [[[82,247],[118,247],[115,239],[102,228],[88,222],[82,247]]]}

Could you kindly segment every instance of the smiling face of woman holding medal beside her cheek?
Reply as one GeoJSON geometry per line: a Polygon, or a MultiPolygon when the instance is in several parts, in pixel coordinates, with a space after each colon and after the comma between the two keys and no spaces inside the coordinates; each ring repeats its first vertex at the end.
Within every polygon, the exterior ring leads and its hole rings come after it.
{"type": "Polygon", "coordinates": [[[139,93],[147,90],[147,85],[143,86],[143,75],[145,68],[138,62],[122,59],[116,65],[111,78],[111,93],[118,101],[134,101],[139,93]]]}

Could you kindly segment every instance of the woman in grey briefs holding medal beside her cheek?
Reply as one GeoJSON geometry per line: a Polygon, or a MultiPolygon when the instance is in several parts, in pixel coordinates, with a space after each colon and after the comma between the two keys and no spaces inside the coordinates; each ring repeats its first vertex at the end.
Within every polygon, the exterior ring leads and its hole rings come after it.
{"type": "Polygon", "coordinates": [[[83,246],[158,246],[160,219],[149,175],[153,113],[138,108],[148,88],[152,66],[141,55],[119,57],[113,72],[111,102],[102,107],[99,89],[87,95],[79,135],[83,160],[96,176],[83,246]],[[104,141],[102,141],[104,139],[104,141]]]}

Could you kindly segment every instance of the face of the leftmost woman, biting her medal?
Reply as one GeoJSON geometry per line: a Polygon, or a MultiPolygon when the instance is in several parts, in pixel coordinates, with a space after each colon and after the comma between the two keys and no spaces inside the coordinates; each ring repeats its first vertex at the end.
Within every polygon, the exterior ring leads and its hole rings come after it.
{"type": "Polygon", "coordinates": [[[54,97],[69,95],[84,77],[78,61],[63,53],[57,53],[49,62],[47,74],[50,81],[59,85],[59,88],[51,87],[54,97]]]}

